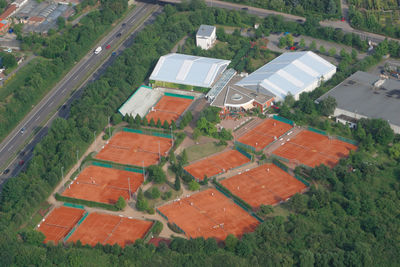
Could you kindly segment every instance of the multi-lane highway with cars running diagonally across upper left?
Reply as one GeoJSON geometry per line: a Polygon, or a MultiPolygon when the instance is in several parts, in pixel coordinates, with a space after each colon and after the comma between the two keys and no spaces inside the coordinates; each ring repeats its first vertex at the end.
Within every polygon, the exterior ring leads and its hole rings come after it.
{"type": "Polygon", "coordinates": [[[57,117],[66,118],[68,116],[69,105],[80,97],[84,85],[98,79],[114,59],[132,44],[137,32],[146,24],[154,21],[160,10],[160,6],[137,3],[136,8],[94,46],[95,48],[101,45],[103,51],[98,55],[95,55],[93,51],[89,52],[3,140],[0,144],[0,166],[7,165],[3,168],[10,169],[10,172],[6,175],[0,173],[0,185],[7,178],[16,176],[26,166],[26,162],[32,157],[33,147],[47,134],[50,123],[57,117]],[[152,16],[149,16],[137,29],[132,31],[133,27],[137,27],[138,22],[142,21],[149,13],[152,13],[152,16]],[[117,37],[118,33],[121,33],[121,37],[117,37]],[[121,38],[124,38],[123,42],[121,42],[121,38]],[[119,42],[121,43],[118,47],[115,46],[119,42]],[[106,50],[105,47],[109,44],[111,48],[106,50]],[[116,52],[115,56],[110,56],[108,52],[111,50],[116,52]],[[102,63],[103,60],[105,60],[104,63],[102,63]],[[92,74],[87,77],[90,73],[92,74]],[[57,112],[54,113],[54,111],[57,112]],[[23,133],[22,128],[24,128],[23,133]],[[28,141],[30,142],[26,144],[28,141]],[[17,157],[11,163],[6,164],[16,153],[17,157]],[[20,165],[22,160],[25,163],[20,165]]]}

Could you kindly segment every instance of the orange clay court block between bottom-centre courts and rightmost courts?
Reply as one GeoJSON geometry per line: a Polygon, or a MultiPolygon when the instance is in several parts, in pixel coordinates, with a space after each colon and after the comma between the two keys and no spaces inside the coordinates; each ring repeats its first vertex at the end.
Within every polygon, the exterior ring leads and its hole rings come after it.
{"type": "Polygon", "coordinates": [[[302,182],[272,163],[261,165],[220,183],[253,208],[258,208],[262,204],[278,204],[307,188],[302,182]]]}

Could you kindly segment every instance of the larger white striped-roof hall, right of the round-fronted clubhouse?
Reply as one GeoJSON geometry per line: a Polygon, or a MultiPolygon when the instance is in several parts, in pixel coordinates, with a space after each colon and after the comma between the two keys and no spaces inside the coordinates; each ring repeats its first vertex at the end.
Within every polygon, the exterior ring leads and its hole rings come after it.
{"type": "Polygon", "coordinates": [[[311,51],[289,52],[265,64],[236,85],[274,96],[278,101],[284,100],[288,94],[298,100],[301,93],[314,90],[335,73],[334,65],[311,51]]]}

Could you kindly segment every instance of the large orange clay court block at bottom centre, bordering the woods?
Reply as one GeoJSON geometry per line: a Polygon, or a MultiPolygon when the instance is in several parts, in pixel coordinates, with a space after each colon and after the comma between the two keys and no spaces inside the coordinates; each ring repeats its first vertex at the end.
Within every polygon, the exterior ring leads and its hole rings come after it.
{"type": "Polygon", "coordinates": [[[252,232],[259,222],[216,189],[183,198],[158,210],[170,223],[180,227],[188,238],[214,237],[225,240],[229,234],[252,232]]]}

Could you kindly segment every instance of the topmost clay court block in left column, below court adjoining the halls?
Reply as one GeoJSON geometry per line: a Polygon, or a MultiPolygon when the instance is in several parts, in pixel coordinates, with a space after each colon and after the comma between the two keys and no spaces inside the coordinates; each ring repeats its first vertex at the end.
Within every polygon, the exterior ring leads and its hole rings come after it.
{"type": "Polygon", "coordinates": [[[172,146],[172,140],[145,134],[118,132],[96,158],[121,164],[142,166],[144,163],[144,166],[150,166],[158,163],[159,144],[160,154],[165,156],[172,146]]]}

